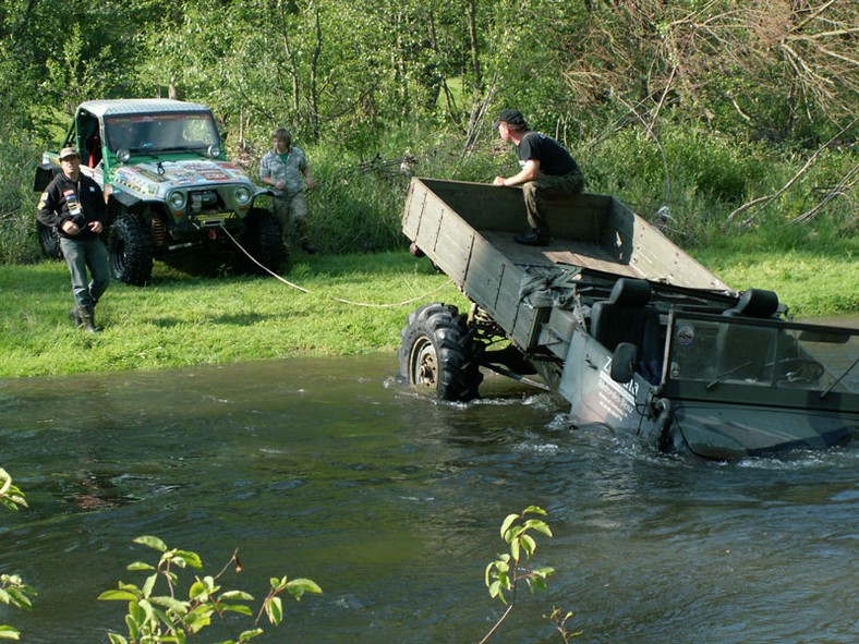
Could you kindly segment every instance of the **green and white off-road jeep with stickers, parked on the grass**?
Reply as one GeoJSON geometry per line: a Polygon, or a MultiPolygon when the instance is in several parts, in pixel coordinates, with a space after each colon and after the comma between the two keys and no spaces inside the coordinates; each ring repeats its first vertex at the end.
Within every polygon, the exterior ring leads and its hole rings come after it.
{"type": "MultiPolygon", "coordinates": [[[[62,147],[81,150],[81,171],[105,192],[114,279],[147,283],[154,258],[185,256],[185,266],[189,256],[201,265],[244,259],[230,238],[273,270],[288,259],[277,220],[255,205],[270,193],[227,160],[211,111],[203,105],[166,99],[81,104],[65,141],[43,155],[37,192],[60,171],[62,147]]],[[[39,224],[39,242],[46,255],[58,255],[55,231],[39,224]]]]}

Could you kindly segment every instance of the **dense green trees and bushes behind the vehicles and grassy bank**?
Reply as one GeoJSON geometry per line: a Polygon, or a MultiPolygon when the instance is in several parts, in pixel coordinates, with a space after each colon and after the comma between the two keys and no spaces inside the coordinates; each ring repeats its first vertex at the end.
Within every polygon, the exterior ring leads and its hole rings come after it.
{"type": "Polygon", "coordinates": [[[509,169],[488,127],[503,107],[573,149],[589,190],[645,217],[667,206],[669,236],[698,246],[741,232],[728,215],[840,130],[840,149],[742,228],[852,234],[857,17],[807,0],[15,0],[0,12],[0,263],[36,256],[32,169],[77,102],[171,92],[209,105],[237,153],[293,131],[328,251],[397,246],[403,178],[356,171],[377,155],[409,150],[443,179],[509,169]]]}

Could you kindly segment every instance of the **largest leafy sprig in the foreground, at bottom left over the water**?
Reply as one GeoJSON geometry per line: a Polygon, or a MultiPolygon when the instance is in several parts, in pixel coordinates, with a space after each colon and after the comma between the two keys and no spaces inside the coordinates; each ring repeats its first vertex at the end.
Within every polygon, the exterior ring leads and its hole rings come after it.
{"type": "MultiPolygon", "coordinates": [[[[125,625],[129,636],[109,633],[111,644],[182,644],[189,640],[195,641],[203,629],[213,624],[214,618],[227,624],[230,613],[253,617],[250,606],[253,596],[243,591],[225,590],[219,583],[231,566],[234,564],[237,572],[241,571],[238,551],[216,575],[195,574],[183,594],[180,585],[184,580],[180,579],[180,573],[187,568],[202,571],[199,556],[191,550],[168,548],[156,536],[141,536],[134,543],[160,552],[160,557],[155,566],[145,561],[128,566],[130,571],[146,574],[142,586],[119,582],[116,590],[105,591],[98,596],[104,602],[128,602],[125,625]]],[[[243,644],[262,634],[264,631],[258,624],[263,615],[269,624],[280,624],[283,620],[280,595],[285,592],[295,600],[301,600],[306,593],[322,593],[322,588],[308,579],[271,578],[270,590],[251,627],[221,644],[243,644]]],[[[228,628],[232,631],[231,624],[228,628]]]]}

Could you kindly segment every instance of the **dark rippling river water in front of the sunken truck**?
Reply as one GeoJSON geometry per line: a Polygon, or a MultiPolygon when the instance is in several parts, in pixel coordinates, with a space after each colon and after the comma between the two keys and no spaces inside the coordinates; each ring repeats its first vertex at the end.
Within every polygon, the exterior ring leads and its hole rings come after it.
{"type": "MultiPolygon", "coordinates": [[[[557,398],[487,379],[469,404],[415,396],[391,355],[0,381],[0,466],[31,509],[0,512],[0,571],[35,610],[23,641],[107,642],[97,602],[154,552],[197,551],[222,583],[325,591],[254,642],[479,642],[501,613],[483,583],[509,512],[548,511],[548,593],[522,593],[495,642],[859,641],[859,450],[734,464],[572,430],[557,398]]],[[[258,603],[256,604],[258,606],[258,603]]],[[[229,633],[203,641],[219,641],[229,633]]]]}

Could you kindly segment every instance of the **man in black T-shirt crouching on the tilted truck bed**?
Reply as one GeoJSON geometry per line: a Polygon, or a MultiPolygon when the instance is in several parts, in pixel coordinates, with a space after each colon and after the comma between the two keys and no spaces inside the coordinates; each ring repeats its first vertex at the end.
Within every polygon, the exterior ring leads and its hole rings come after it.
{"type": "Polygon", "coordinates": [[[501,141],[516,146],[521,170],[512,177],[496,177],[495,185],[521,185],[531,230],[513,236],[520,244],[545,246],[549,229],[543,204],[546,201],[573,197],[584,189],[584,177],[570,154],[557,141],[532,132],[522,112],[504,110],[493,127],[501,141]]]}

